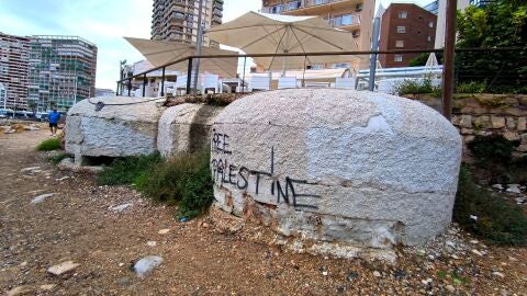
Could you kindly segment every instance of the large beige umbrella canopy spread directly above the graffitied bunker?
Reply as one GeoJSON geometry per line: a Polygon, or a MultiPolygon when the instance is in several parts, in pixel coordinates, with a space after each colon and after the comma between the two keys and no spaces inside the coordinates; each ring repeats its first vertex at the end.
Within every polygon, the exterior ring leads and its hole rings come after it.
{"type": "MultiPolygon", "coordinates": [[[[248,12],[206,35],[221,44],[250,54],[351,52],[357,49],[351,33],[329,26],[319,16],[290,16],[248,12]]],[[[304,65],[349,62],[352,56],[255,57],[265,69],[304,68],[304,65]],[[305,62],[305,64],[304,64],[305,62]]]]}

